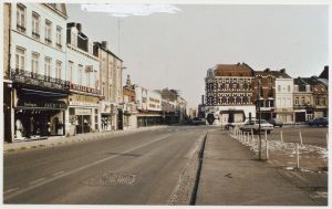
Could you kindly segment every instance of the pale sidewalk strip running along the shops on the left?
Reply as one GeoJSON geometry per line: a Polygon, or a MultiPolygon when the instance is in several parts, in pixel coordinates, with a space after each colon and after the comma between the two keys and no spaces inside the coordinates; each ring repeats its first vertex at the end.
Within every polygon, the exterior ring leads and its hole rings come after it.
{"type": "Polygon", "coordinates": [[[83,142],[83,140],[96,140],[105,137],[122,136],[126,134],[134,134],[138,132],[158,129],[167,126],[163,125],[163,126],[152,126],[152,127],[139,127],[134,129],[115,130],[115,132],[79,134],[76,136],[70,136],[70,137],[54,136],[54,137],[49,137],[48,139],[40,139],[40,140],[3,143],[3,153],[23,150],[29,148],[54,147],[59,145],[83,142]]]}

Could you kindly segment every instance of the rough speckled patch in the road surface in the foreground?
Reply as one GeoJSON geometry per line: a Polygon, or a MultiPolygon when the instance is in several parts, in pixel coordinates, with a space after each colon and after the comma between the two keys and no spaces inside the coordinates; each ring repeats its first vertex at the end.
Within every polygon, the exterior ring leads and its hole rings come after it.
{"type": "Polygon", "coordinates": [[[124,174],[124,173],[103,173],[102,175],[93,176],[83,181],[85,186],[92,187],[108,187],[115,185],[134,185],[136,180],[135,174],[124,174]]]}

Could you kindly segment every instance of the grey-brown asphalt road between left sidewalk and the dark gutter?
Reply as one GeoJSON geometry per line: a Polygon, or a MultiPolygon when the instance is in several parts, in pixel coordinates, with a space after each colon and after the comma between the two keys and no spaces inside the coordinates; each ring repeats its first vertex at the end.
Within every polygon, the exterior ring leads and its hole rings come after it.
{"type": "Polygon", "coordinates": [[[168,205],[210,128],[172,126],[4,154],[3,202],[168,205]]]}

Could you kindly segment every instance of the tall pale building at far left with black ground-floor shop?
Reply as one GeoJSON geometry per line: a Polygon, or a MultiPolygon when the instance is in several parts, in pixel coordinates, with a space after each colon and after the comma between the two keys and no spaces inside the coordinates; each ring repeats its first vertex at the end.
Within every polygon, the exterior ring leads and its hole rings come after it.
{"type": "Polygon", "coordinates": [[[4,88],[6,96],[11,96],[7,140],[62,136],[69,96],[65,4],[10,3],[4,8],[10,9],[4,72],[12,82],[4,88]]]}

